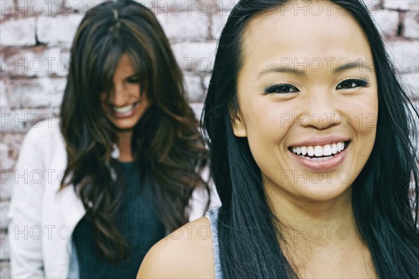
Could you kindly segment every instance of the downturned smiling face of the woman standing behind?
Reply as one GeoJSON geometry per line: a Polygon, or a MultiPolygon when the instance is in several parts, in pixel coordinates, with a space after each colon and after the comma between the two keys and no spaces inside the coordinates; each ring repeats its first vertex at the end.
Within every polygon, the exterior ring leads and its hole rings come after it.
{"type": "Polygon", "coordinates": [[[101,95],[105,115],[118,129],[132,129],[149,106],[147,94],[140,96],[140,83],[131,59],[122,55],[113,76],[114,89],[101,95]]]}

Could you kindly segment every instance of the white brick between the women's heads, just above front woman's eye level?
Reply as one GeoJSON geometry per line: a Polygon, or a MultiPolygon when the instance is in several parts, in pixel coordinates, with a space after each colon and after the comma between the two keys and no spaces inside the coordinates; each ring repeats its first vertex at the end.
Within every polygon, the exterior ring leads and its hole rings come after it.
{"type": "Polygon", "coordinates": [[[208,72],[214,66],[216,43],[175,43],[175,57],[182,70],[208,72]]]}

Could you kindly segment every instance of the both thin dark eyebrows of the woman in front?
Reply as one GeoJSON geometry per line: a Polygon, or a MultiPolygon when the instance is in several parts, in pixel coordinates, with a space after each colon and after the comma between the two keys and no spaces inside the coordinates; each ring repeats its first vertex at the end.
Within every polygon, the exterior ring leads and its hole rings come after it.
{"type": "MultiPolygon", "coordinates": [[[[306,67],[306,66],[304,66],[306,67]]],[[[365,69],[368,71],[374,71],[371,65],[365,62],[348,62],[342,63],[332,70],[332,73],[341,73],[343,71],[348,71],[350,69],[365,69]]],[[[258,77],[265,75],[266,73],[292,73],[297,76],[305,76],[306,71],[297,69],[292,66],[267,66],[265,69],[258,73],[258,77]]]]}

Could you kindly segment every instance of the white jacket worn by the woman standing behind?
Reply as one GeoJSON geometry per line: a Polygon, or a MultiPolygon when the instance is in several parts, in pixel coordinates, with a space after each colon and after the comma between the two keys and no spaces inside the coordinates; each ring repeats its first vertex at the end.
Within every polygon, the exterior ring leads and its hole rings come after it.
{"type": "MultiPolygon", "coordinates": [[[[67,155],[58,120],[39,122],[25,136],[15,166],[9,236],[12,278],[67,278],[71,235],[84,216],[74,188],[59,191],[67,155]]],[[[189,219],[204,214],[208,194],[193,192],[189,219]]],[[[219,205],[212,186],[211,205],[219,205]]]]}

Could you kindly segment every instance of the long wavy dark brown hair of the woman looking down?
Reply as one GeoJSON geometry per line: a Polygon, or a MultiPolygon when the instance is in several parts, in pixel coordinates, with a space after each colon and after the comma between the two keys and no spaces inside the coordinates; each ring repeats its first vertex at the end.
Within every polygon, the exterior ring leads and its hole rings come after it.
{"type": "Polygon", "coordinates": [[[127,252],[113,222],[124,188],[111,157],[116,128],[101,108],[100,95],[112,92],[112,77],[125,53],[140,80],[140,94],[151,103],[133,129],[133,157],[140,171],[151,171],[154,198],[168,229],[187,222],[193,189],[207,187],[200,176],[207,150],[186,101],[182,72],[154,14],[135,1],[89,10],[73,41],[61,105],[68,155],[61,189],[75,187],[94,224],[98,248],[111,262],[127,252]]]}

